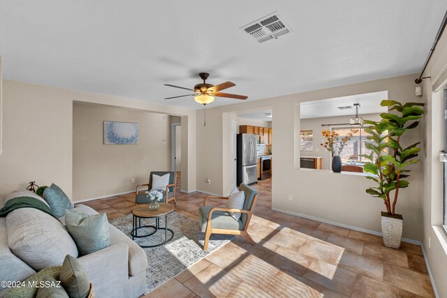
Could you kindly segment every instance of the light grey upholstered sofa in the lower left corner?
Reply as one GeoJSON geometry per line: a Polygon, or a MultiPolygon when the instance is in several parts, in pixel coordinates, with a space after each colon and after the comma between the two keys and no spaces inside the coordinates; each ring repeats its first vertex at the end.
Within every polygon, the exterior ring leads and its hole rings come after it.
{"type": "MultiPolygon", "coordinates": [[[[29,191],[16,191],[0,199],[0,208],[22,195],[42,200],[29,191]]],[[[85,205],[74,210],[97,214],[85,205]]],[[[74,241],[63,224],[63,217],[57,221],[32,208],[16,209],[0,218],[0,281],[24,281],[42,267],[61,265],[67,253],[78,258],[74,241]]],[[[94,285],[95,297],[140,297],[147,292],[145,251],[112,225],[110,246],[78,260],[94,285]]],[[[8,289],[0,286],[0,297],[6,292],[8,289]]]]}

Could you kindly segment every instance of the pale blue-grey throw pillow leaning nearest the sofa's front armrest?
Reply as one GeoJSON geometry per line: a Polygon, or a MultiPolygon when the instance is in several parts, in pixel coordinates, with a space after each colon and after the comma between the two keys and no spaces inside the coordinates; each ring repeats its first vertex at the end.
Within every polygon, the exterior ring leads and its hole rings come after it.
{"type": "Polygon", "coordinates": [[[78,246],[79,255],[88,255],[110,246],[109,222],[105,213],[87,215],[67,210],[65,223],[78,246]]]}

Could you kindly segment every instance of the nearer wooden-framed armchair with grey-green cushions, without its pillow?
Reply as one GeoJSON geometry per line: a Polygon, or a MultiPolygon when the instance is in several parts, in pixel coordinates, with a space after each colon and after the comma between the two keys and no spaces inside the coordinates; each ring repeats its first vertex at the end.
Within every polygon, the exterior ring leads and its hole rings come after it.
{"type": "Polygon", "coordinates": [[[243,209],[228,209],[221,207],[206,206],[207,199],[217,198],[228,200],[228,197],[217,197],[215,195],[208,195],[203,202],[203,207],[199,208],[198,221],[202,232],[205,232],[205,244],[203,250],[208,249],[208,242],[211,234],[237,234],[242,235],[251,244],[254,244],[247,229],[251,220],[251,215],[254,211],[254,204],[258,198],[258,192],[247,184],[240,184],[239,191],[244,191],[245,202],[243,209]],[[242,216],[239,221],[230,216],[228,212],[240,212],[242,216]]]}

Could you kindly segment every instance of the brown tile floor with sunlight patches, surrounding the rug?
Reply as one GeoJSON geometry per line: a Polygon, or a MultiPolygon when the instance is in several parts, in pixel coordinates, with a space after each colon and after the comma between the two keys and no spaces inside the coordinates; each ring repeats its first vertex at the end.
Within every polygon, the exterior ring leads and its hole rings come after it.
{"type": "MultiPolygon", "coordinates": [[[[256,245],[237,237],[145,297],[434,297],[419,246],[396,251],[372,234],[272,211],[270,179],[254,188],[256,245]]],[[[177,193],[175,211],[197,220],[205,196],[177,193]]],[[[128,194],[84,204],[112,219],[134,202],[128,194]]]]}

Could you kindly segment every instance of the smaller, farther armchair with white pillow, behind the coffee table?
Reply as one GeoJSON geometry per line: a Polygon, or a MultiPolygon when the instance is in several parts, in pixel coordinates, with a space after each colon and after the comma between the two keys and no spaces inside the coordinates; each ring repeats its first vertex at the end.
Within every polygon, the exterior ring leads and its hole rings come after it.
{"type": "Polygon", "coordinates": [[[175,184],[177,184],[177,173],[176,172],[150,172],[149,173],[149,183],[138,184],[135,192],[135,204],[149,204],[149,198],[147,198],[145,191],[141,188],[147,186],[147,190],[152,189],[159,190],[163,193],[163,200],[160,202],[168,203],[175,200],[175,184]]]}

